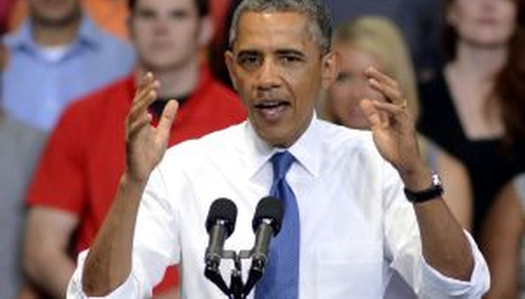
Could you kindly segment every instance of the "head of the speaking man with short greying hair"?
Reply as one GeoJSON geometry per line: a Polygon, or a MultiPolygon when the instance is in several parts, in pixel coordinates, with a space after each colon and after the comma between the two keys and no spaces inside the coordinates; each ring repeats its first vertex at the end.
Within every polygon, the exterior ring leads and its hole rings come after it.
{"type": "Polygon", "coordinates": [[[258,136],[288,147],[307,129],[333,78],[331,18],[318,0],[245,0],[226,52],[232,82],[258,136]]]}

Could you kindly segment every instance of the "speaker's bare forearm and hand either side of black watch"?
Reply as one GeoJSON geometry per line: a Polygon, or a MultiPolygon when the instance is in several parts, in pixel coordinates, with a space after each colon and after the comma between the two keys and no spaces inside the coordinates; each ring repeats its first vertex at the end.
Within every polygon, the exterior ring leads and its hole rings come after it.
{"type": "MultiPolygon", "coordinates": [[[[361,101],[377,149],[397,169],[406,188],[427,189],[432,183],[430,172],[419,154],[414,121],[397,83],[373,68],[368,68],[366,75],[371,87],[386,98],[386,102],[361,101]]],[[[469,281],[474,257],[463,229],[445,201],[415,204],[414,210],[425,261],[448,277],[469,281]]]]}

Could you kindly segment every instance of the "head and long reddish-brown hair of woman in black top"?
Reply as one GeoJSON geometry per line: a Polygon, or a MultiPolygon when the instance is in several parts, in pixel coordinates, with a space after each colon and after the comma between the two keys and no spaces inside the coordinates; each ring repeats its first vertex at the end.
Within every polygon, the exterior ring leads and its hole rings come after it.
{"type": "Polygon", "coordinates": [[[525,1],[447,0],[443,48],[447,61],[468,59],[461,49],[503,49],[507,60],[488,94],[488,116],[501,112],[506,140],[525,136],[525,1]],[[493,109],[497,106],[497,109],[493,109]]]}

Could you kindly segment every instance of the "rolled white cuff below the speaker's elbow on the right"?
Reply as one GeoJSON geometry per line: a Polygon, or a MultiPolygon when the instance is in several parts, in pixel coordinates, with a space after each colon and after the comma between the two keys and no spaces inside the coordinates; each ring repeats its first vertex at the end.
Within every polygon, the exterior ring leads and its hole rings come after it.
{"type": "Polygon", "coordinates": [[[447,277],[432,268],[423,260],[422,278],[425,294],[428,298],[480,298],[490,287],[490,274],[485,258],[479,251],[476,242],[467,231],[464,231],[470,243],[474,270],[469,281],[460,281],[447,277]]]}

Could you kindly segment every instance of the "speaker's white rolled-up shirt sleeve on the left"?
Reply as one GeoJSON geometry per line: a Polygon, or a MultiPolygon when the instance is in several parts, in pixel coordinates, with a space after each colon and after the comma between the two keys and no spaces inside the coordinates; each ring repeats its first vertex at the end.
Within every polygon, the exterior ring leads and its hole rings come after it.
{"type": "MultiPolygon", "coordinates": [[[[181,194],[171,194],[167,190],[161,168],[162,163],[153,170],[141,199],[133,238],[132,269],[127,280],[107,296],[87,296],[82,290],[82,272],[88,251],[83,251],[68,284],[67,298],[151,297],[153,286],[161,281],[166,268],[179,262],[180,247],[176,237],[178,209],[174,201],[181,194]]],[[[184,175],[177,174],[173,178],[177,185],[187,186],[184,175]]],[[[180,190],[182,194],[188,192],[184,188],[172,189],[180,190]]]]}

